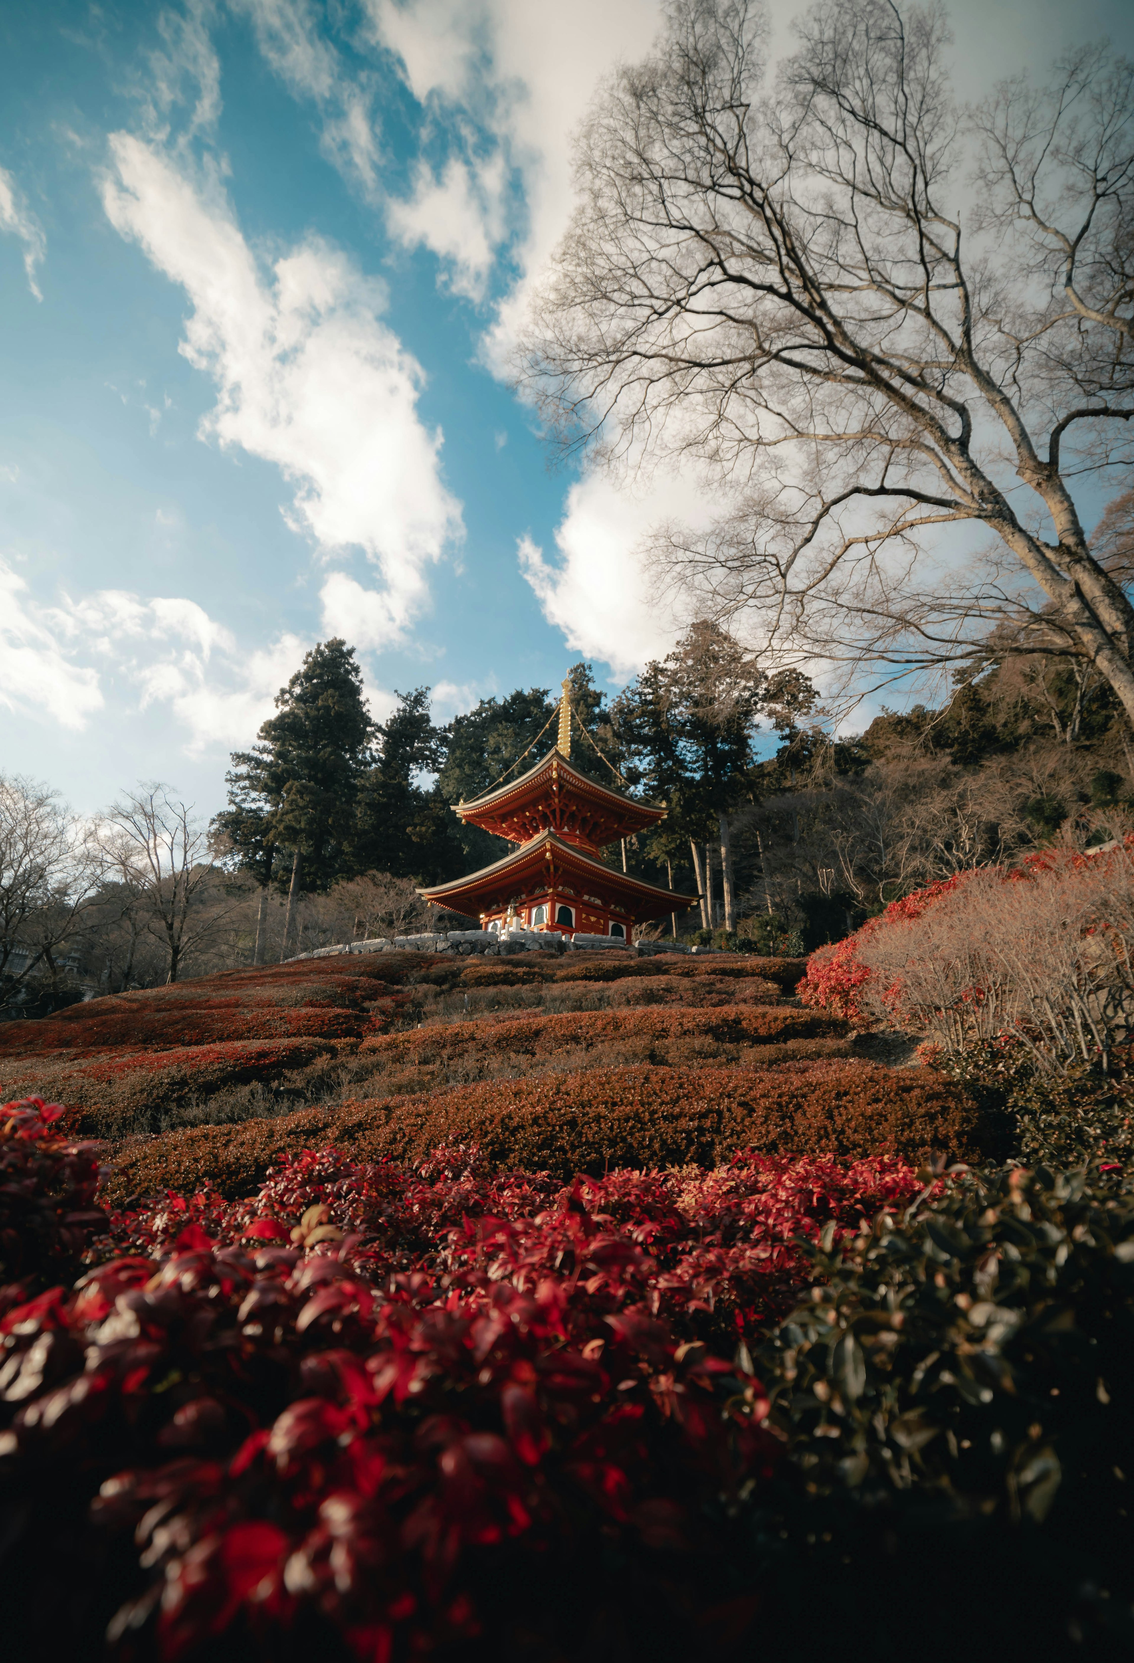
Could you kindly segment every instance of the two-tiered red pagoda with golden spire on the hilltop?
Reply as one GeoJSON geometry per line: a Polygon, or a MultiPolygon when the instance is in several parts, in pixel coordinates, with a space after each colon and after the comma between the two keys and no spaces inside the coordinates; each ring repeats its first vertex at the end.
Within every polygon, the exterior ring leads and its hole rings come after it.
{"type": "Polygon", "coordinates": [[[665,818],[622,792],[589,780],[570,762],[567,682],[559,737],[534,768],[454,813],[517,848],[466,878],[419,893],[434,906],[481,918],[482,930],[550,930],[632,941],[634,928],[693,906],[695,896],[643,883],[599,858],[599,850],[665,818]]]}

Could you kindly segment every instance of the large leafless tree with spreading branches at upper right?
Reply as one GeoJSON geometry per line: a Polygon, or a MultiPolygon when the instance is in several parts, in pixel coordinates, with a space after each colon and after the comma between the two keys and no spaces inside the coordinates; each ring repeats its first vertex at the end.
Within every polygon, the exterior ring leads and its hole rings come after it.
{"type": "Polygon", "coordinates": [[[702,612],[845,685],[1011,622],[1134,722],[1134,609],[1072,492],[1134,437],[1134,68],[1084,48],[961,111],[936,10],[796,30],[767,90],[757,7],[678,0],[617,72],[520,379],[564,447],[730,487],[655,542],[702,612]]]}

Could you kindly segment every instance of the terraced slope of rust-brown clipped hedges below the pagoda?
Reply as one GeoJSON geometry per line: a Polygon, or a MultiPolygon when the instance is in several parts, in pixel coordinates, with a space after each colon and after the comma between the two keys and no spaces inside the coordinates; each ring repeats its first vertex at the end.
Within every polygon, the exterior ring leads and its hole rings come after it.
{"type": "Polygon", "coordinates": [[[106,1139],[116,1194],[246,1194],[281,1151],[481,1144],[569,1176],[768,1151],[978,1152],[938,1076],[853,1056],[788,998],[801,965],[416,953],[308,960],[0,1028],[0,1096],[106,1139]]]}

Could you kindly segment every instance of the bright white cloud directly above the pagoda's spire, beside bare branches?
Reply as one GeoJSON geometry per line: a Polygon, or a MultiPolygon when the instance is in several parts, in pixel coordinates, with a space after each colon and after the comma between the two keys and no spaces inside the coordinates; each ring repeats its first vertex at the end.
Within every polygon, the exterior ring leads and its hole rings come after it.
{"type": "Polygon", "coordinates": [[[683,622],[645,569],[642,540],[660,521],[697,524],[703,517],[702,494],[680,476],[645,492],[590,476],[567,494],[555,530],[559,560],[547,560],[530,537],[520,537],[520,572],[567,645],[604,660],[624,680],[667,654],[683,622]]]}

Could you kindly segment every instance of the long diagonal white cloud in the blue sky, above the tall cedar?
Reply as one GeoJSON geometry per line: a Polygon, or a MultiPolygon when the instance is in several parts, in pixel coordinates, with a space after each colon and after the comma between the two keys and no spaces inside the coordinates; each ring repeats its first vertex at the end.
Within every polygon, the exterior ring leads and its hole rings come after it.
{"type": "Polygon", "coordinates": [[[214,173],[186,170],[130,133],[110,140],[103,206],[121,236],[193,304],[183,354],[213,376],[203,432],[274,462],[296,492],[288,522],[324,555],[359,547],[382,579],[381,634],[429,604],[427,567],[461,534],[441,482],[441,431],[417,414],[421,366],[379,319],[382,289],[309,239],[261,274],[214,173]]]}

